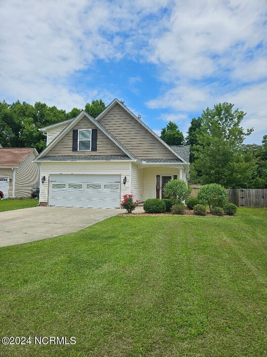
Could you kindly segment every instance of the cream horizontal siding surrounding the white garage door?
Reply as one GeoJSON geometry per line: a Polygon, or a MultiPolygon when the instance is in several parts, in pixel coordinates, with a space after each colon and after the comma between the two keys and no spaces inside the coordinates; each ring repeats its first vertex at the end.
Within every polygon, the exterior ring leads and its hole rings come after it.
{"type": "Polygon", "coordinates": [[[45,176],[46,180],[40,185],[40,202],[47,202],[48,181],[51,174],[121,175],[122,179],[126,176],[126,185],[121,183],[121,200],[123,195],[129,193],[129,162],[44,162],[41,165],[41,175],[45,176]]]}

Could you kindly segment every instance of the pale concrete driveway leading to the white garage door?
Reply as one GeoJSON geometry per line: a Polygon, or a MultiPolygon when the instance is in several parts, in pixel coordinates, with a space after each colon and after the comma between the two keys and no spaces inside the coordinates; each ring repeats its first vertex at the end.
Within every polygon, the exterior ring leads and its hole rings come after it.
{"type": "Polygon", "coordinates": [[[119,209],[33,207],[0,212],[0,246],[76,232],[122,213],[119,209]]]}

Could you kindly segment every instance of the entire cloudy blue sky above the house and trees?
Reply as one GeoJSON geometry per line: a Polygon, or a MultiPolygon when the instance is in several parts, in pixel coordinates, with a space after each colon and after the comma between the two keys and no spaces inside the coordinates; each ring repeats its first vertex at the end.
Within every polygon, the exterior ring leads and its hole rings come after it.
{"type": "Polygon", "coordinates": [[[266,0],[2,0],[0,100],[115,97],[155,132],[227,101],[267,134],[266,0]]]}

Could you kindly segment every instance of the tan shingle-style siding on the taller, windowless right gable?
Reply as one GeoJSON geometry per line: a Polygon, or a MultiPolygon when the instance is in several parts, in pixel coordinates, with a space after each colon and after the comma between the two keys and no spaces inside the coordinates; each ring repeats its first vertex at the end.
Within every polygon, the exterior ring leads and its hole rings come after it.
{"type": "Polygon", "coordinates": [[[99,122],[138,159],[177,159],[119,104],[115,104],[99,122]]]}

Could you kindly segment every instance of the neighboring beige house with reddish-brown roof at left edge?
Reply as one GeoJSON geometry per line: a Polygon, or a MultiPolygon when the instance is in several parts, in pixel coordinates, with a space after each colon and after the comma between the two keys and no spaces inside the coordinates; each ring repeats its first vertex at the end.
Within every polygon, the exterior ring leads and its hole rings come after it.
{"type": "Polygon", "coordinates": [[[0,198],[31,196],[40,179],[37,155],[32,148],[0,148],[0,198]]]}

